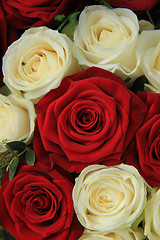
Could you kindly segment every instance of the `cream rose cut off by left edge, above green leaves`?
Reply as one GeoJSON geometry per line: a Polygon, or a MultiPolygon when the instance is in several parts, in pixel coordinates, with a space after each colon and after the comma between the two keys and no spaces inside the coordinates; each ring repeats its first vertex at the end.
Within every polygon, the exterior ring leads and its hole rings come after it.
{"type": "MultiPolygon", "coordinates": [[[[13,94],[0,94],[0,142],[30,143],[34,132],[36,113],[31,101],[13,94]]],[[[0,151],[3,152],[4,149],[0,151]]]]}

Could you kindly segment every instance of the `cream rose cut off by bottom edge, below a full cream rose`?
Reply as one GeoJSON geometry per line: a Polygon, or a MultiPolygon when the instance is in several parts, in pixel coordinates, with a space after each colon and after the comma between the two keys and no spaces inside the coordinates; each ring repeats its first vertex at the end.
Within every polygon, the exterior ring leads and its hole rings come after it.
{"type": "Polygon", "coordinates": [[[143,229],[133,231],[131,228],[115,230],[109,233],[84,230],[83,235],[78,240],[143,240],[143,229]]]}

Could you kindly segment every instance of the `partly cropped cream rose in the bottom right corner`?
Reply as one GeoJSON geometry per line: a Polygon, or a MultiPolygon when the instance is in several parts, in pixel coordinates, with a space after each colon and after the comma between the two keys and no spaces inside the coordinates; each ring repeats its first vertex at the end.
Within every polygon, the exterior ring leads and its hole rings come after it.
{"type": "Polygon", "coordinates": [[[160,189],[153,194],[145,207],[144,234],[150,240],[160,239],[160,189]]]}

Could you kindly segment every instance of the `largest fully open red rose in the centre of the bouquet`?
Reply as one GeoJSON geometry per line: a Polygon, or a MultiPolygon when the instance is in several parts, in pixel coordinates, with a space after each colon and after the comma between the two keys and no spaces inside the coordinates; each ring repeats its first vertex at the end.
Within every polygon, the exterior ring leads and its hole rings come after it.
{"type": "MultiPolygon", "coordinates": [[[[44,148],[69,172],[90,164],[115,165],[143,121],[145,104],[115,74],[89,68],[63,79],[36,105],[44,148]]],[[[40,155],[40,154],[39,154],[40,155]]]]}

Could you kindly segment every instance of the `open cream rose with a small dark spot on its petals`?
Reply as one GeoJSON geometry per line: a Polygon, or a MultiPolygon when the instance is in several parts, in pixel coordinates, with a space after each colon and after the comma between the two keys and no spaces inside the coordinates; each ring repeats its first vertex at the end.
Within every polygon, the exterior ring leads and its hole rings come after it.
{"type": "Polygon", "coordinates": [[[30,28],[3,58],[4,82],[16,94],[37,102],[61,80],[79,71],[71,53],[72,41],[47,27],[30,28]]]}

